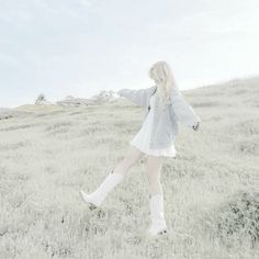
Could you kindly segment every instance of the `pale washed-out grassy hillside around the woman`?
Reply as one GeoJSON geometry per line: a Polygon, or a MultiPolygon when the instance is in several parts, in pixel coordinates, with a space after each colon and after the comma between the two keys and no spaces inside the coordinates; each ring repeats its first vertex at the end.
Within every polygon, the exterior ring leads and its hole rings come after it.
{"type": "Polygon", "coordinates": [[[202,119],[180,125],[161,183],[168,236],[149,240],[146,156],[89,211],[124,157],[144,110],[119,100],[87,108],[24,105],[0,121],[1,258],[259,258],[259,78],[183,91],[202,119]],[[29,109],[29,110],[27,110],[29,109]]]}

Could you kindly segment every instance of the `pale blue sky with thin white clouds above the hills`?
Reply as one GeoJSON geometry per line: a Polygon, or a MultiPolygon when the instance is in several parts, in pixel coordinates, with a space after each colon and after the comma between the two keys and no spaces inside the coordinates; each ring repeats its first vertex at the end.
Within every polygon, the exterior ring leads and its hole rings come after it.
{"type": "Polygon", "coordinates": [[[258,0],[0,0],[0,106],[259,75],[258,0]]]}

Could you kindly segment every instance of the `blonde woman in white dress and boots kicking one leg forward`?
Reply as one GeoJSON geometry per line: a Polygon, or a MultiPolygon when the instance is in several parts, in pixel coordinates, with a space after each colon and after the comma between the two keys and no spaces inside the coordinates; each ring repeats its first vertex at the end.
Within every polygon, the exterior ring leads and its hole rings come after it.
{"type": "Polygon", "coordinates": [[[155,86],[130,90],[122,89],[117,94],[146,109],[143,125],[130,143],[124,157],[109,173],[100,187],[92,193],[80,191],[85,202],[93,210],[101,205],[106,194],[124,178],[130,168],[145,154],[147,155],[146,173],[149,181],[149,206],[151,225],[147,235],[157,236],[167,233],[164,217],[164,192],[160,183],[162,157],[176,157],[174,139],[178,135],[178,121],[199,130],[201,119],[179,92],[170,66],[158,61],[151,66],[148,76],[155,86]]]}

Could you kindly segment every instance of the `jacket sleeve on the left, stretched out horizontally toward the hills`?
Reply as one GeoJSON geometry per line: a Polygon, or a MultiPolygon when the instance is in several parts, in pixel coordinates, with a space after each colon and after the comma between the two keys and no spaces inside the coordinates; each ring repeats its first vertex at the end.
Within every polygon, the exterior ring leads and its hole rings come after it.
{"type": "Polygon", "coordinates": [[[148,102],[149,91],[150,88],[144,88],[139,90],[132,90],[132,89],[121,89],[117,91],[117,94],[121,97],[125,97],[131,102],[134,102],[135,104],[139,106],[146,106],[148,102]]]}

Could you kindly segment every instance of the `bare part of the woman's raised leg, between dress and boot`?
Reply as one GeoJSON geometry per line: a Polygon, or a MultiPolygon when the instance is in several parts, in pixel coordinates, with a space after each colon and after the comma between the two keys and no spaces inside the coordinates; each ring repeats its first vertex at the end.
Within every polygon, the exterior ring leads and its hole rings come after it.
{"type": "Polygon", "coordinates": [[[126,156],[114,167],[113,172],[125,176],[142,155],[138,148],[130,145],[126,156]]]}

